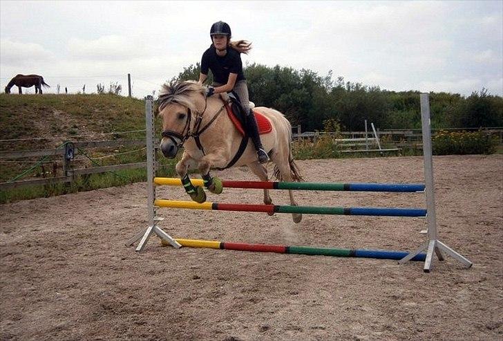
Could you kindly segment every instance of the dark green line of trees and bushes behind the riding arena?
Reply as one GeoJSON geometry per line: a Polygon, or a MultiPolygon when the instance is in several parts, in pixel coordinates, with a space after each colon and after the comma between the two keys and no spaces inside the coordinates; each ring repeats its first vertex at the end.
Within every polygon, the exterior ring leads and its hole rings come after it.
{"type": "MultiPolygon", "coordinates": [[[[191,64],[170,82],[198,80],[200,64],[191,64]]],[[[306,69],[249,64],[244,67],[249,98],[281,111],[303,131],[323,130],[334,120],[345,131],[361,131],[364,120],[381,129],[420,129],[419,91],[388,91],[379,86],[320,76],[306,69]]],[[[211,84],[211,74],[207,84],[211,84]]],[[[469,96],[430,93],[433,128],[503,127],[503,98],[486,89],[469,96]]]]}

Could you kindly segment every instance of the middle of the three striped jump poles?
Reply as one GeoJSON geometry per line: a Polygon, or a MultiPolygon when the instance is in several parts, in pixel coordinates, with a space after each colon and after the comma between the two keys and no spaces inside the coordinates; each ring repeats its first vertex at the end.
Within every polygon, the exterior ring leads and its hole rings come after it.
{"type": "Polygon", "coordinates": [[[194,201],[177,201],[158,199],[155,206],[162,208],[188,208],[191,210],[304,213],[304,214],[343,214],[349,216],[426,216],[426,210],[419,208],[337,208],[321,206],[290,205],[254,205],[244,203],[196,203],[194,201]]]}

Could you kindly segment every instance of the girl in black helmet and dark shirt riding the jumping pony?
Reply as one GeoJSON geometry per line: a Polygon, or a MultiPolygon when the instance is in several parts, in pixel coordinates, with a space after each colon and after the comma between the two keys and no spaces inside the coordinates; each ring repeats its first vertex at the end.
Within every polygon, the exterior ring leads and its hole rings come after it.
{"type": "Polygon", "coordinates": [[[213,44],[202,54],[199,82],[201,84],[205,82],[208,71],[211,70],[214,82],[208,88],[207,96],[231,91],[238,95],[247,115],[247,131],[257,151],[258,161],[265,163],[269,160],[269,156],[260,142],[257,121],[249,107],[248,86],[243,75],[243,63],[240,56],[240,53],[248,53],[251,46],[243,40],[231,42],[231,28],[223,21],[213,24],[209,35],[213,44]]]}

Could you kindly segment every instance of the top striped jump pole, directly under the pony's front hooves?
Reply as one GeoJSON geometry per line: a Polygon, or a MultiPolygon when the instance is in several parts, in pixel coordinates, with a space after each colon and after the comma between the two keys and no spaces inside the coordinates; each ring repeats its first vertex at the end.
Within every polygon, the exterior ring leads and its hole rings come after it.
{"type": "MultiPolygon", "coordinates": [[[[182,186],[179,178],[154,178],[155,185],[182,186]]],[[[202,179],[191,179],[192,185],[203,186],[202,179]]],[[[422,183],[287,183],[274,181],[227,181],[224,188],[255,188],[263,190],[310,190],[348,192],[424,192],[422,183]]]]}

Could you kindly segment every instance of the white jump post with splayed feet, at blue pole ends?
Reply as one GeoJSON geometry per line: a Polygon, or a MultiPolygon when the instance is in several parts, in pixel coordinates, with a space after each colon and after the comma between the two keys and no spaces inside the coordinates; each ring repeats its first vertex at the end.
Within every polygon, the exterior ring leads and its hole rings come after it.
{"type": "Polygon", "coordinates": [[[442,252],[460,261],[466,268],[472,266],[472,262],[459,255],[455,250],[446,246],[438,240],[437,235],[437,216],[435,215],[435,185],[433,182],[433,148],[431,146],[431,121],[430,121],[430,100],[428,93],[421,93],[421,122],[423,129],[423,157],[424,157],[424,180],[426,185],[426,212],[428,219],[428,240],[424,242],[417,250],[411,252],[408,256],[400,259],[399,264],[415,257],[423,250],[428,250],[426,260],[424,261],[424,272],[429,273],[433,268],[433,252],[439,260],[444,260],[442,252]]]}

